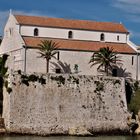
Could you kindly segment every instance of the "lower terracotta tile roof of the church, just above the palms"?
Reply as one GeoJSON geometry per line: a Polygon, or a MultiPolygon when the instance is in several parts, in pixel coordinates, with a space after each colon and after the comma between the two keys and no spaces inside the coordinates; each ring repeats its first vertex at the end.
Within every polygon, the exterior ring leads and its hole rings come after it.
{"type": "Polygon", "coordinates": [[[25,45],[28,47],[38,47],[41,40],[53,40],[58,43],[59,49],[64,50],[81,50],[81,51],[98,51],[102,47],[113,48],[116,53],[133,53],[136,51],[132,49],[128,44],[123,43],[105,43],[94,41],[78,41],[78,40],[66,40],[66,39],[50,39],[50,38],[37,38],[37,37],[23,37],[25,45]]]}

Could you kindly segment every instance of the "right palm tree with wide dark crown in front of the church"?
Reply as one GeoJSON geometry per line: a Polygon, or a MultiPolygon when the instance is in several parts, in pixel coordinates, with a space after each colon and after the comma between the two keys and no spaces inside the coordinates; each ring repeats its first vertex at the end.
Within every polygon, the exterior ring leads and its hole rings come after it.
{"type": "Polygon", "coordinates": [[[118,65],[119,57],[116,56],[116,54],[113,52],[113,49],[109,47],[104,47],[100,48],[98,52],[95,52],[89,61],[91,64],[91,67],[94,65],[99,65],[97,70],[101,69],[102,67],[104,68],[104,71],[108,75],[108,70],[111,68],[113,65],[118,65]]]}

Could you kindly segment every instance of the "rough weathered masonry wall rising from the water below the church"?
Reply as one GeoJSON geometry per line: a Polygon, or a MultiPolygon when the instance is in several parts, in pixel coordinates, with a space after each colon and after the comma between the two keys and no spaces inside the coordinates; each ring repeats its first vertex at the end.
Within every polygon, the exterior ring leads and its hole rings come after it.
{"type": "Polygon", "coordinates": [[[127,130],[123,78],[54,74],[43,76],[46,84],[41,84],[22,77],[13,75],[12,92],[4,93],[8,132],[85,135],[127,130]]]}

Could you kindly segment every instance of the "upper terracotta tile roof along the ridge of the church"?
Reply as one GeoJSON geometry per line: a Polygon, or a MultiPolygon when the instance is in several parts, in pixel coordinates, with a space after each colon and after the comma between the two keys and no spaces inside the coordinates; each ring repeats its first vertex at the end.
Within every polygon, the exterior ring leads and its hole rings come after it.
{"type": "Polygon", "coordinates": [[[122,24],[113,22],[67,20],[62,18],[36,17],[24,15],[15,15],[15,18],[19,24],[23,25],[128,33],[127,29],[122,24]]]}

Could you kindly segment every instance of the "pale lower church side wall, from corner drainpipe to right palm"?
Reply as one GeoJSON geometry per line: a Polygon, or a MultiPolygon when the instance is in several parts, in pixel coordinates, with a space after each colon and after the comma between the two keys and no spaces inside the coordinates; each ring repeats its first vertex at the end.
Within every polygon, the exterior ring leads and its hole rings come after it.
{"type": "MultiPolygon", "coordinates": [[[[46,72],[46,61],[43,58],[39,58],[39,50],[37,49],[27,49],[27,61],[26,61],[26,72],[33,73],[33,72],[46,72]]],[[[90,68],[88,64],[89,59],[92,53],[87,52],[78,52],[78,51],[60,51],[60,61],[63,65],[69,65],[71,72],[74,73],[74,65],[78,64],[79,74],[94,74],[97,75],[97,70],[90,68]]],[[[58,64],[57,60],[51,59],[49,72],[54,73],[55,64],[58,64]]],[[[61,67],[61,65],[59,65],[61,67]]],[[[96,67],[96,66],[95,66],[96,67]]]]}

